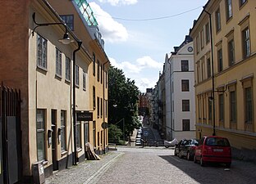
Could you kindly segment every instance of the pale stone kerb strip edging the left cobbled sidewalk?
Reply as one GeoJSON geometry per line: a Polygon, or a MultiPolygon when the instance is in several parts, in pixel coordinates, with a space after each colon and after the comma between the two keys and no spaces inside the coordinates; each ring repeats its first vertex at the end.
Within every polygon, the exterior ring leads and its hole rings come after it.
{"type": "Polygon", "coordinates": [[[91,177],[89,177],[88,180],[86,180],[86,182],[84,182],[83,184],[94,184],[97,183],[98,180],[100,179],[100,177],[103,176],[104,173],[107,172],[107,169],[110,168],[110,166],[112,164],[114,164],[117,159],[119,159],[119,157],[121,157],[122,155],[124,155],[125,153],[120,153],[119,155],[117,155],[115,158],[113,158],[112,160],[110,160],[109,162],[107,162],[106,164],[103,165],[103,167],[99,168],[98,171],[96,173],[94,173],[94,175],[92,175],[91,177]]]}

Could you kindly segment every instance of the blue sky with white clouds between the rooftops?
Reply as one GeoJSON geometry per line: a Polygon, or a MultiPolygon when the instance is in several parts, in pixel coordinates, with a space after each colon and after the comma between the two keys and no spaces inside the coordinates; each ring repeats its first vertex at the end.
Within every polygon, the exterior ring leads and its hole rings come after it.
{"type": "Polygon", "coordinates": [[[98,21],[111,65],[135,80],[140,92],[154,88],[166,54],[190,33],[208,0],[87,0],[98,21]]]}

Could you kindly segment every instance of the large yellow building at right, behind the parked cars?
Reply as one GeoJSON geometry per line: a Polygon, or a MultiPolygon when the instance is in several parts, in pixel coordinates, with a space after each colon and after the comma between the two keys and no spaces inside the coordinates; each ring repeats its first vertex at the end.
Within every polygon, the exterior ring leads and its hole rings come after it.
{"type": "Polygon", "coordinates": [[[196,135],[227,137],[240,157],[256,149],[255,7],[253,0],[209,0],[190,31],[196,135]]]}

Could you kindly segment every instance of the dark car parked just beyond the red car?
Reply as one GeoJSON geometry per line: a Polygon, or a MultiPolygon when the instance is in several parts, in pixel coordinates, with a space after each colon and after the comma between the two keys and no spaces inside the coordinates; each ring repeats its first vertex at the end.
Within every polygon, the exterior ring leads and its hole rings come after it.
{"type": "Polygon", "coordinates": [[[194,149],[198,146],[199,142],[196,139],[189,139],[181,141],[181,144],[177,144],[175,148],[175,154],[180,158],[185,157],[188,160],[194,158],[194,149]]]}

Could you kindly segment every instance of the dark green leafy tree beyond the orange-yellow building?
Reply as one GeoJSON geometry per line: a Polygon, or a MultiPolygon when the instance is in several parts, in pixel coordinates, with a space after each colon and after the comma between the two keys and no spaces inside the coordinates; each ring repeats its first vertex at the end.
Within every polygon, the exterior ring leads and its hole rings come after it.
{"type": "Polygon", "coordinates": [[[139,128],[138,98],[139,89],[135,81],[126,79],[122,70],[110,66],[108,70],[108,123],[116,124],[128,136],[135,128],[139,128]],[[125,119],[125,121],[121,121],[125,119]]]}

